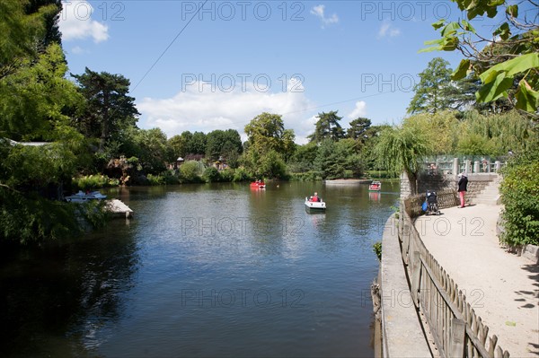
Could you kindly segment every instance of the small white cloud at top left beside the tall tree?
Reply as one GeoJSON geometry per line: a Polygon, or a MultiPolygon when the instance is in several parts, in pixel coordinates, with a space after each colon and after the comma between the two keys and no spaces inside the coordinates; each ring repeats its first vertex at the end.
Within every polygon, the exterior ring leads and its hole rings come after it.
{"type": "Polygon", "coordinates": [[[84,0],[62,3],[62,13],[58,22],[62,40],[93,39],[99,43],[109,39],[109,27],[92,19],[93,6],[84,0]]]}

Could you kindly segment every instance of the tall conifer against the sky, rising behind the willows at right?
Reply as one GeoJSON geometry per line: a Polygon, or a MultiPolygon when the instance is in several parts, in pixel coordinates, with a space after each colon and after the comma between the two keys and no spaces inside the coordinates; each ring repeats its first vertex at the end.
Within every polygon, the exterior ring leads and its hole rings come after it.
{"type": "Polygon", "coordinates": [[[420,82],[413,86],[415,92],[411,99],[408,113],[436,113],[453,107],[452,94],[455,86],[451,82],[449,63],[435,57],[429,61],[427,68],[420,73],[420,82]]]}

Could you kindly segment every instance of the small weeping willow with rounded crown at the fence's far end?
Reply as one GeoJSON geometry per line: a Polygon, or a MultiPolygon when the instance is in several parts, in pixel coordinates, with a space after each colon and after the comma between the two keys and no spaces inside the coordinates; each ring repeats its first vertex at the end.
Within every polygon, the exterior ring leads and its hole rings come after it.
{"type": "Polygon", "coordinates": [[[430,152],[428,136],[415,126],[386,128],[375,147],[378,166],[393,175],[404,171],[410,181],[411,195],[417,194],[420,163],[430,152]]]}

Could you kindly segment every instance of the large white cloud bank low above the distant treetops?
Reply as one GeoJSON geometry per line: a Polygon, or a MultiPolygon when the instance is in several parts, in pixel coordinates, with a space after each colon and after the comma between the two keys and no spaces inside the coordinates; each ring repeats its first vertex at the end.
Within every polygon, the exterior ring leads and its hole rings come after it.
{"type": "Polygon", "coordinates": [[[137,103],[142,114],[141,127],[160,127],[168,137],[181,132],[216,129],[236,129],[243,140],[243,127],[262,112],[280,114],[285,128],[294,129],[296,143],[305,144],[306,135],[314,130],[314,118],[305,118],[305,112],[314,104],[305,97],[303,87],[292,80],[287,92],[256,91],[252,83],[224,92],[208,83],[190,83],[185,91],[172,98],[144,98],[137,103]],[[291,90],[293,89],[293,90],[291,90]],[[297,91],[297,92],[293,92],[297,91]]]}

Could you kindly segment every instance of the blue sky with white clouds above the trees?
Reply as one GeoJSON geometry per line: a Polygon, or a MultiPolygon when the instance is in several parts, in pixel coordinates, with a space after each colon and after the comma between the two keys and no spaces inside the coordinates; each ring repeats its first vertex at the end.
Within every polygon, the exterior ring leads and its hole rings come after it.
{"type": "MultiPolygon", "coordinates": [[[[171,137],[243,127],[268,111],[296,142],[316,115],[338,110],[342,127],[367,117],[399,123],[431,27],[462,17],[447,1],[69,1],[60,31],[69,70],[123,74],[141,113],[138,127],[171,137]]],[[[486,23],[475,22],[490,30],[486,23]]],[[[244,138],[244,135],[243,135],[244,138]]]]}

